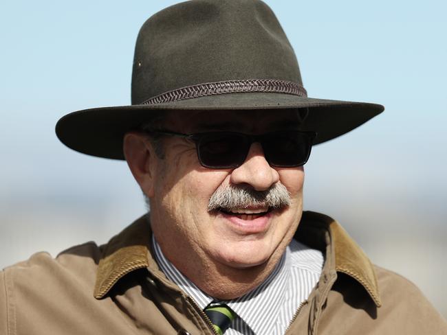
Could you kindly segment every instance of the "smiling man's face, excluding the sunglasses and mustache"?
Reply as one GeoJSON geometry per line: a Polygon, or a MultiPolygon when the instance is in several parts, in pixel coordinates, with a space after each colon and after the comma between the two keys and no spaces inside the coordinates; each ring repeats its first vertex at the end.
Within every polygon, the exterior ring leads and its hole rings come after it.
{"type": "MultiPolygon", "coordinates": [[[[164,126],[187,134],[215,130],[262,134],[297,127],[293,111],[173,112],[164,126]]],[[[215,170],[199,163],[192,141],[165,137],[163,143],[164,159],[151,155],[155,164],[151,224],[166,257],[177,266],[182,262],[179,268],[194,262],[231,268],[276,262],[301,219],[303,167],[272,167],[261,145],[252,143],[241,166],[215,170]],[[290,194],[287,207],[208,211],[219,187],[265,191],[278,183],[290,194]]]]}

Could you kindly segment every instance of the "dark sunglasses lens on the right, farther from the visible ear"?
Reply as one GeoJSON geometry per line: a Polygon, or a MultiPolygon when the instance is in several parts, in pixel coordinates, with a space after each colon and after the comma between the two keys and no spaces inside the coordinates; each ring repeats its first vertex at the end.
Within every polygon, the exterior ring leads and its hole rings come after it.
{"type": "Polygon", "coordinates": [[[313,136],[306,132],[289,131],[265,135],[263,150],[270,165],[295,167],[309,159],[313,136]]]}

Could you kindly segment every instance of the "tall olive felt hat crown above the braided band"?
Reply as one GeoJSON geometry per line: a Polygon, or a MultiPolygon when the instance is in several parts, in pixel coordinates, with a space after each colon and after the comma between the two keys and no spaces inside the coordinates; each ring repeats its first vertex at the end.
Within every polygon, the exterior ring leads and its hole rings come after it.
{"type": "Polygon", "coordinates": [[[302,86],[294,50],[258,0],[191,0],[157,12],[135,45],[132,104],[186,86],[228,80],[302,86]]]}

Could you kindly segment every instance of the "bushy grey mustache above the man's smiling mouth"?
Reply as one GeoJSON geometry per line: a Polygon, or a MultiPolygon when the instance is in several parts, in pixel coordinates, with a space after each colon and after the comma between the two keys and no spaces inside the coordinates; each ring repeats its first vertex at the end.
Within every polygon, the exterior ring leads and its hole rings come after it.
{"type": "Polygon", "coordinates": [[[251,187],[221,185],[208,202],[208,211],[215,209],[237,209],[247,207],[282,208],[290,205],[290,194],[281,183],[276,183],[265,191],[251,187]]]}

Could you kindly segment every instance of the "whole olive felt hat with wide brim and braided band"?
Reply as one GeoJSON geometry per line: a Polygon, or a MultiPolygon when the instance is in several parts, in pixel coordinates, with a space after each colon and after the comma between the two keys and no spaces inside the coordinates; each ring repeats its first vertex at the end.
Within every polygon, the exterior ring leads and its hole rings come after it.
{"type": "Polygon", "coordinates": [[[384,110],[380,104],[307,97],[279,21],[259,0],[191,0],[157,12],[138,34],[131,106],[69,113],[56,124],[66,146],[124,159],[122,139],[154,111],[303,108],[318,144],[384,110]]]}

